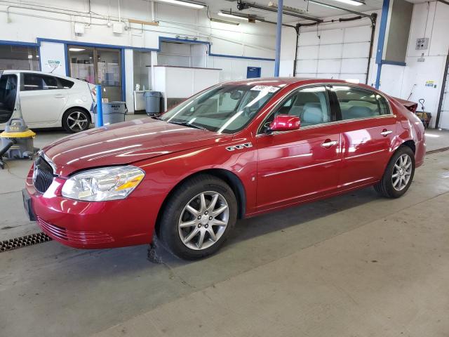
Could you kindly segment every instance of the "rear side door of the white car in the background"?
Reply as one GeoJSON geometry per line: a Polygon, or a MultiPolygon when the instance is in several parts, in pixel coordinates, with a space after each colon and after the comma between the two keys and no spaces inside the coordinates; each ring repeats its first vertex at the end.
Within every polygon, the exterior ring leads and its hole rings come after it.
{"type": "Polygon", "coordinates": [[[67,90],[51,75],[22,72],[20,105],[28,124],[52,124],[58,121],[67,103],[67,90]]]}

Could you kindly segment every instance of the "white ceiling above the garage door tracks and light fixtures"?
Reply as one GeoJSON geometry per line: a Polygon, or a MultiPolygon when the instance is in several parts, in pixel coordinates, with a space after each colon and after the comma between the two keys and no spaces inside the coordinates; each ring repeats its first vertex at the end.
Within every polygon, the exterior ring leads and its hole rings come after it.
{"type": "MultiPolygon", "coordinates": [[[[365,0],[366,5],[362,6],[351,6],[347,4],[343,4],[340,1],[336,0],[319,0],[320,2],[339,6],[342,8],[348,8],[352,11],[358,11],[358,12],[369,12],[369,11],[376,11],[380,8],[382,8],[382,0],[365,0]]],[[[421,1],[421,0],[412,0],[412,1],[421,1]]],[[[208,4],[210,8],[211,15],[216,16],[217,12],[221,9],[225,9],[229,11],[229,9],[232,9],[232,11],[238,11],[237,10],[237,1],[236,0],[206,0],[201,1],[203,3],[208,4]]],[[[260,5],[267,6],[269,3],[269,0],[248,0],[248,3],[257,3],[260,5]]],[[[277,2],[277,1],[273,1],[277,2]]],[[[337,15],[345,15],[348,14],[345,11],[340,11],[339,9],[334,8],[328,8],[316,4],[309,4],[305,0],[284,0],[283,1],[284,6],[291,6],[294,8],[302,9],[304,11],[307,11],[307,14],[311,16],[315,16],[317,18],[328,18],[331,16],[337,16],[337,15]],[[307,7],[308,5],[308,7],[307,7]]],[[[276,21],[276,13],[270,13],[268,11],[262,11],[255,8],[250,8],[245,11],[241,11],[241,13],[248,13],[248,14],[255,14],[259,15],[262,18],[265,18],[266,20],[270,21],[276,21]]],[[[294,18],[289,15],[283,15],[283,22],[297,22],[298,18],[294,18]]]]}

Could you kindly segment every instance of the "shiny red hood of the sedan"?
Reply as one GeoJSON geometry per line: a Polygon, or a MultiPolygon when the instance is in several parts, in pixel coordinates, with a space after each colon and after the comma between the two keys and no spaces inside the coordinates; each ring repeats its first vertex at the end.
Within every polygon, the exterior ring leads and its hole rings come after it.
{"type": "Polygon", "coordinates": [[[56,173],[67,176],[82,169],[130,164],[229,138],[232,136],[145,118],[75,133],[44,147],[43,152],[55,164],[56,173]]]}

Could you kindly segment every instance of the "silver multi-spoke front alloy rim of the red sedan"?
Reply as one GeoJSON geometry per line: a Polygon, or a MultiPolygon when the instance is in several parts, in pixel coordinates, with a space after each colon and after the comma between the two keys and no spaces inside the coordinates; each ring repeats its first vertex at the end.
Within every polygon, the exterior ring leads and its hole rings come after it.
{"type": "Polygon", "coordinates": [[[229,222],[229,206],[218,192],[208,191],[193,197],[178,222],[180,239],[189,249],[213,246],[225,233],[229,222]]]}

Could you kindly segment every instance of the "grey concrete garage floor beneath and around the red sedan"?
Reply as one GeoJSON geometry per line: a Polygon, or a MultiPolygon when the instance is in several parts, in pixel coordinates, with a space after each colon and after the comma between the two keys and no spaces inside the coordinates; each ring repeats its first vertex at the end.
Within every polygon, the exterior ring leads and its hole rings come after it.
{"type": "MultiPolygon", "coordinates": [[[[429,150],[449,146],[428,133],[429,150]]],[[[20,199],[30,164],[0,171],[0,241],[39,231],[20,199]]],[[[57,242],[0,253],[0,336],[449,336],[448,202],[437,152],[401,199],[368,188],[241,220],[206,260],[57,242]]]]}

